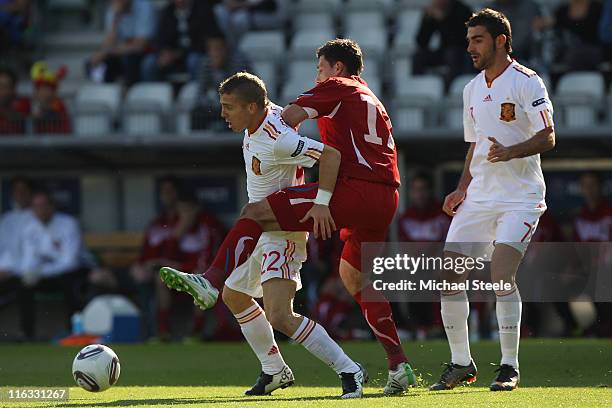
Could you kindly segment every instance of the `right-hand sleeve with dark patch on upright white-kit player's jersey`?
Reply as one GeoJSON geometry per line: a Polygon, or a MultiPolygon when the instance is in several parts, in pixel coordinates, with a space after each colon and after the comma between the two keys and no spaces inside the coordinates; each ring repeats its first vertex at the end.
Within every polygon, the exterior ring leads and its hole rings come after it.
{"type": "Polygon", "coordinates": [[[547,127],[554,127],[553,106],[546,86],[539,76],[534,75],[527,79],[521,99],[529,123],[536,133],[547,127]]]}

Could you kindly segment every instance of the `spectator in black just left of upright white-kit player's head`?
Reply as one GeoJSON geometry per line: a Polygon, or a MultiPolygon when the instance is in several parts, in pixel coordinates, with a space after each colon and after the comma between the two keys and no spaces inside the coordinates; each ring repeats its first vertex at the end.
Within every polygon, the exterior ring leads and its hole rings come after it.
{"type": "Polygon", "coordinates": [[[413,58],[412,72],[422,75],[432,68],[445,70],[447,84],[460,74],[473,72],[466,52],[465,22],[472,10],[459,0],[432,0],[425,9],[417,33],[417,51],[413,58]],[[434,34],[440,35],[437,49],[430,48],[434,34]]]}

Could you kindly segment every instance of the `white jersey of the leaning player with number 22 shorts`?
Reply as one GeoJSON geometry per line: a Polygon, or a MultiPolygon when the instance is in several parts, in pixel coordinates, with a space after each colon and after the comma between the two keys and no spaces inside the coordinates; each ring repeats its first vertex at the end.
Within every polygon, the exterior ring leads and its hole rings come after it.
{"type": "MultiPolygon", "coordinates": [[[[252,134],[244,131],[242,151],[249,202],[265,199],[287,187],[304,183],[303,167],[312,167],[323,152],[323,143],[300,136],[281,117],[282,108],[268,106],[268,114],[252,134]]],[[[305,240],[304,232],[273,233],[285,239],[305,240]]]]}

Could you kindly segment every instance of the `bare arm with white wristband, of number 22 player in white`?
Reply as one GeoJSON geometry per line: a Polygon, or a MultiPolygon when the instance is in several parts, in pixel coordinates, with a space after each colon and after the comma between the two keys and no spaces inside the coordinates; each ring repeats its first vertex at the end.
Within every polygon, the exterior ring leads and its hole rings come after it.
{"type": "Polygon", "coordinates": [[[325,145],[319,159],[319,191],[314,205],[300,220],[300,222],[305,222],[312,218],[315,238],[331,238],[332,233],[336,230],[336,224],[329,211],[329,202],[336,187],[340,160],[340,152],[325,145]]]}

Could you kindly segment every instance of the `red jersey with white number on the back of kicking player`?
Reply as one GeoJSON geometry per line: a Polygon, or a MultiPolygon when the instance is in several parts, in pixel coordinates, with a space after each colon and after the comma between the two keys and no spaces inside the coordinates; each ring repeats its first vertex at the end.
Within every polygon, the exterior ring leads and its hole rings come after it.
{"type": "Polygon", "coordinates": [[[400,185],[391,120],[363,79],[329,78],[292,103],[318,119],[321,141],[342,153],[339,177],[400,185]]]}

